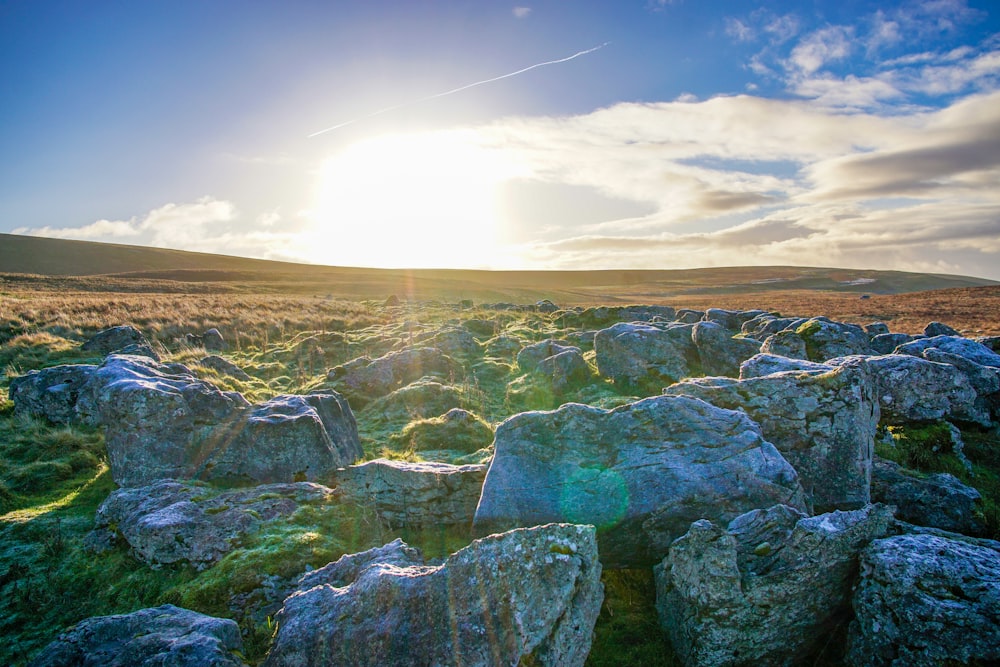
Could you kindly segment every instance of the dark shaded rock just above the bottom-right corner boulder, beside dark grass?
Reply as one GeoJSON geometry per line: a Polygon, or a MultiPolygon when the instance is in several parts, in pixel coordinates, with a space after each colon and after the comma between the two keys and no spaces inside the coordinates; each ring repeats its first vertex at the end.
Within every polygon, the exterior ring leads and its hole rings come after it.
{"type": "Polygon", "coordinates": [[[896,516],[918,526],[982,535],[982,497],[948,473],[920,474],[876,459],[872,500],[896,506],[896,516]]]}

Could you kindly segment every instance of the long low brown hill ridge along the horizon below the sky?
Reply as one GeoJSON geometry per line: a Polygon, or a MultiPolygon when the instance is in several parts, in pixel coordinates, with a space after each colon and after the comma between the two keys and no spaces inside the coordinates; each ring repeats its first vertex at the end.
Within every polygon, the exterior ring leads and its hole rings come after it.
{"type": "MultiPolygon", "coordinates": [[[[331,267],[15,234],[0,234],[0,274],[8,274],[0,276],[7,281],[15,280],[10,274],[46,276],[65,283],[67,289],[89,289],[89,283],[106,277],[118,286],[210,282],[240,290],[258,285],[266,286],[266,291],[365,298],[398,293],[421,298],[475,295],[506,300],[551,293],[567,302],[576,302],[576,297],[592,301],[601,294],[615,295],[616,301],[640,301],[669,295],[789,290],[899,294],[1000,285],[966,276],[792,266],[594,271],[331,267]]],[[[183,291],[183,286],[178,284],[176,291],[183,291]]]]}

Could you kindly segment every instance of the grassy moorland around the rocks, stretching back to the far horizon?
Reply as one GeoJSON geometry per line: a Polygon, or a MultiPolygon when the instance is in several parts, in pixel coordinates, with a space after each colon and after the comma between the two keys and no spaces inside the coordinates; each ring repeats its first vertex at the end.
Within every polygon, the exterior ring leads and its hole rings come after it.
{"type": "MultiPolygon", "coordinates": [[[[203,572],[183,566],[150,570],[124,548],[95,558],[86,550],[84,537],[98,504],[114,488],[102,434],[16,416],[6,391],[11,378],[30,370],[100,363],[100,357],[81,351],[79,345],[109,326],[136,326],[165,360],[188,364],[199,377],[240,391],[251,401],[333,388],[327,371],[338,364],[365,354],[379,356],[427,340],[442,328],[469,322],[479,327],[476,336],[481,343],[500,333],[524,343],[567,333],[558,313],[484,305],[494,302],[550,299],[563,307],[643,303],[761,308],[862,324],[883,321],[893,331],[908,333],[919,333],[928,322],[939,320],[969,336],[1000,335],[1000,286],[895,272],[768,267],[489,274],[321,267],[292,271],[288,266],[277,270],[255,265],[252,270],[191,266],[114,275],[81,271],[71,276],[40,275],[39,267],[14,268],[31,272],[0,274],[3,664],[23,664],[59,631],[84,617],[163,602],[238,619],[247,658],[255,662],[267,648],[271,620],[243,616],[234,600],[252,595],[265,577],[291,576],[305,566],[321,566],[397,535],[430,555],[443,555],[469,540],[454,533],[393,531],[364,507],[334,507],[295,516],[286,525],[264,531],[203,572]],[[395,300],[387,303],[390,297],[396,297],[398,305],[395,300]],[[197,365],[206,352],[185,336],[212,327],[229,344],[225,356],[250,379],[223,376],[197,365]],[[335,344],[322,342],[334,340],[335,344]]],[[[593,363],[593,353],[588,355],[593,363]]],[[[510,354],[481,353],[466,364],[468,372],[454,381],[461,404],[491,427],[523,409],[554,407],[545,387],[520,375],[510,354]]],[[[595,382],[571,398],[610,407],[635,397],[621,394],[610,383],[595,382]]],[[[389,418],[379,410],[378,405],[355,407],[366,456],[419,459],[421,453],[409,434],[426,419],[389,418]]],[[[928,456],[921,449],[920,433],[901,432],[897,437],[910,443],[896,454],[909,457],[911,465],[964,475],[951,457],[928,456]]],[[[965,479],[987,497],[987,520],[996,535],[1000,530],[996,434],[973,430],[965,437],[966,453],[975,465],[975,478],[965,479]]],[[[657,626],[650,574],[608,572],[605,585],[607,599],[588,664],[675,664],[657,626]]],[[[816,664],[839,664],[836,642],[829,646],[816,656],[816,664]]]]}

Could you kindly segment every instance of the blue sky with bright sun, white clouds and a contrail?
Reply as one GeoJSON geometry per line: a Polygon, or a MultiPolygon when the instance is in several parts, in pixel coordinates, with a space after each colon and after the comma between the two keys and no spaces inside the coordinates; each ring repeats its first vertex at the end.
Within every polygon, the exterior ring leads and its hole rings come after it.
{"type": "Polygon", "coordinates": [[[980,0],[0,0],[0,232],[1000,280],[980,0]]]}

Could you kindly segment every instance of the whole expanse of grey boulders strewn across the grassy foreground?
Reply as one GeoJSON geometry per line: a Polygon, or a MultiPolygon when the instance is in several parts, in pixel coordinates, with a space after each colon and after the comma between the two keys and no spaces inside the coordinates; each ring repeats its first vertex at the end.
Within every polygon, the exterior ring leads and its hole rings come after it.
{"type": "MultiPolygon", "coordinates": [[[[687,666],[811,664],[836,632],[850,665],[1000,661],[982,495],[875,453],[903,446],[894,429],[996,429],[993,347],[941,323],[914,336],[762,310],[491,308],[408,322],[405,344],[372,344],[381,356],[306,394],[251,403],[123,326],[84,344],[100,363],[30,371],[9,395],[17,414],[103,429],[118,488],[86,539],[95,558],[124,548],[200,572],[339,506],[466,545],[426,558],[386,540],[243,598],[260,607],[237,616],[274,615],[269,667],[583,665],[602,572],[623,568],[652,572],[687,666]],[[503,418],[468,411],[468,387],[511,377],[503,418]],[[533,396],[546,409],[513,409],[533,396]],[[363,446],[355,411],[413,421],[363,446]],[[379,456],[399,443],[406,456],[379,456]]],[[[217,330],[185,344],[253,380],[217,330]]],[[[968,464],[958,444],[939,454],[968,464]]],[[[243,651],[233,621],[163,605],[85,619],[31,664],[243,665],[243,651]]]]}

